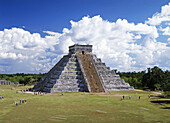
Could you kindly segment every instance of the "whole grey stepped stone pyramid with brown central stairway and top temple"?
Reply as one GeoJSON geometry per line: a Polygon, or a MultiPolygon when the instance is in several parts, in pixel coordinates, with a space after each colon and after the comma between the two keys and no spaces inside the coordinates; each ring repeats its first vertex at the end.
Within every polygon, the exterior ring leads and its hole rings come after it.
{"type": "Polygon", "coordinates": [[[63,58],[33,87],[34,91],[106,92],[134,90],[92,53],[92,45],[75,44],[63,58]]]}

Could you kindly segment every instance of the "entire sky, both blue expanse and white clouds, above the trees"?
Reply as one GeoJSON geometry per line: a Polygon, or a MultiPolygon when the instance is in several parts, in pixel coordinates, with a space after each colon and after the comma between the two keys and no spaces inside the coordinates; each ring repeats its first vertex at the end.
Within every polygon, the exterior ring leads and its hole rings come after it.
{"type": "Polygon", "coordinates": [[[47,72],[74,43],[118,71],[169,69],[168,2],[0,0],[0,73],[47,72]]]}

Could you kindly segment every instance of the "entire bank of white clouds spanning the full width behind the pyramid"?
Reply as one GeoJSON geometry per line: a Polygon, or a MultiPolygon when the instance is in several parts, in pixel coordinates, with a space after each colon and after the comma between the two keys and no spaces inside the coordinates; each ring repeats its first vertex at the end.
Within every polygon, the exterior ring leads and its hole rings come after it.
{"type": "MultiPolygon", "coordinates": [[[[119,71],[140,71],[154,65],[169,69],[170,38],[168,42],[158,41],[160,34],[155,26],[167,20],[169,6],[163,6],[161,13],[145,23],[126,19],[109,22],[99,15],[71,20],[70,29],[64,28],[62,33],[44,31],[44,38],[20,28],[4,29],[0,31],[0,71],[47,72],[75,43],[93,45],[93,52],[119,71]]],[[[161,31],[170,34],[169,27],[161,31]]]]}

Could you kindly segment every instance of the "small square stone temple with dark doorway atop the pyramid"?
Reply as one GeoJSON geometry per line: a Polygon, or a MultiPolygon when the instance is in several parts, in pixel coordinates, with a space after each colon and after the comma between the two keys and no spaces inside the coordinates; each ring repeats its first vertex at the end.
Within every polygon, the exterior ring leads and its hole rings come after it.
{"type": "Polygon", "coordinates": [[[92,52],[92,45],[79,45],[75,44],[72,46],[69,46],[69,53],[91,53],[92,52]]]}

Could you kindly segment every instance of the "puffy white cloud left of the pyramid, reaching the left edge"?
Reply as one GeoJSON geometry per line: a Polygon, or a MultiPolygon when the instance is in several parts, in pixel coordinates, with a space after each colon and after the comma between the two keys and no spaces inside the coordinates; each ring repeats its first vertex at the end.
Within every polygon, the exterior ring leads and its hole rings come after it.
{"type": "Polygon", "coordinates": [[[46,66],[42,66],[44,63],[40,64],[41,59],[52,55],[48,52],[54,50],[56,43],[48,36],[42,38],[38,33],[31,34],[20,28],[0,31],[1,71],[9,69],[9,72],[37,72],[37,68],[45,69],[46,66]],[[3,67],[6,63],[9,64],[8,69],[3,67]]]}

